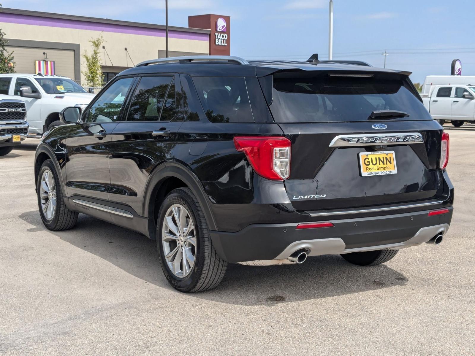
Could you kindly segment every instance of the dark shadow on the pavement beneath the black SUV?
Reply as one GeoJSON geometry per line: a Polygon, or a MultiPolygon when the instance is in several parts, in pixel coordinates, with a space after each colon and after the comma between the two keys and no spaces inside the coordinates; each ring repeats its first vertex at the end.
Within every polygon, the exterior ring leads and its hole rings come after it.
{"type": "MultiPolygon", "coordinates": [[[[29,232],[46,230],[37,211],[19,217],[35,226],[29,232]]],[[[171,289],[161,271],[155,241],[142,234],[82,214],[75,228],[50,233],[144,281],[171,289]]],[[[229,264],[218,288],[190,296],[229,304],[273,306],[389,288],[407,281],[404,275],[384,264],[361,267],[338,255],[325,255],[309,257],[299,265],[229,264]]]]}

